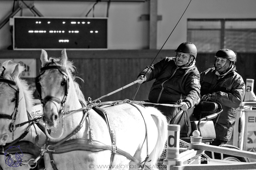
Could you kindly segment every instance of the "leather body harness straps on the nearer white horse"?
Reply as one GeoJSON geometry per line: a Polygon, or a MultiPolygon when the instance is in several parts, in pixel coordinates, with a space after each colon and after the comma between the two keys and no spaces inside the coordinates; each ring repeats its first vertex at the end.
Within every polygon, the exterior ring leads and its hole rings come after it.
{"type": "MultiPolygon", "coordinates": [[[[119,103],[116,103],[114,105],[111,105],[111,106],[116,106],[118,104],[123,104],[123,103],[129,103],[131,104],[132,106],[136,107],[139,112],[141,113],[142,115],[142,112],[140,111],[140,109],[134,105],[134,103],[130,103],[130,100],[122,100],[120,101],[119,103]]],[[[131,156],[129,153],[121,150],[121,149],[117,149],[116,145],[115,145],[115,134],[114,134],[114,131],[112,130],[111,128],[111,125],[110,125],[110,121],[109,121],[109,118],[108,118],[108,113],[102,109],[102,108],[99,108],[99,107],[96,107],[95,105],[100,105],[100,104],[95,104],[93,106],[93,103],[89,103],[92,105],[92,109],[94,109],[99,115],[101,115],[101,117],[105,120],[106,124],[107,124],[107,127],[108,127],[108,130],[109,130],[109,133],[110,133],[110,137],[111,137],[111,143],[112,143],[112,146],[110,145],[105,145],[101,142],[98,142],[98,141],[95,141],[95,140],[92,140],[90,139],[90,135],[89,135],[89,141],[88,139],[71,139],[71,140],[68,140],[68,138],[70,138],[71,136],[73,136],[74,134],[76,134],[82,127],[84,120],[86,117],[88,117],[89,115],[89,112],[88,110],[89,109],[78,109],[78,110],[84,110],[84,116],[81,120],[81,123],[80,125],[78,125],[76,127],[76,129],[70,133],[67,137],[65,137],[64,139],[62,139],[61,141],[57,142],[57,143],[53,143],[53,142],[48,142],[48,151],[46,151],[47,153],[49,153],[49,156],[50,156],[50,159],[51,159],[51,165],[53,167],[54,170],[58,170],[55,163],[54,163],[54,160],[53,160],[53,156],[52,154],[62,154],[62,153],[66,153],[66,152],[70,152],[70,151],[102,151],[102,150],[111,150],[111,163],[112,163],[112,160],[114,158],[114,154],[116,152],[118,152],[119,154],[122,154],[123,156],[127,157],[128,159],[132,160],[134,163],[136,163],[138,166],[143,166],[145,169],[148,169],[150,170],[150,168],[148,167],[145,167],[145,162],[147,162],[148,160],[148,157],[149,157],[149,154],[148,154],[148,137],[147,137],[147,125],[146,125],[146,121],[143,117],[143,120],[145,122],[145,127],[146,127],[146,134],[145,134],[145,138],[146,138],[146,142],[147,142],[147,157],[146,159],[143,161],[144,164],[142,164],[141,162],[139,162],[139,160],[137,160],[135,157],[131,156]],[[85,111],[86,110],[86,111],[85,111]],[[80,127],[80,128],[78,128],[80,127]],[[91,141],[91,142],[90,142],[91,141]],[[98,142],[95,143],[95,142],[98,142]],[[51,145],[53,144],[53,145],[51,145]],[[72,145],[73,144],[73,145],[72,145]],[[54,151],[53,151],[54,150],[54,151]]],[[[102,103],[101,103],[102,104],[102,103]]],[[[108,103],[104,103],[104,104],[109,104],[108,103]]],[[[137,104],[137,103],[136,103],[137,104]]],[[[90,108],[90,109],[91,109],[90,108]]],[[[70,111],[70,112],[74,112],[74,111],[70,111]]],[[[69,113],[70,113],[69,112],[69,113]]],[[[88,125],[90,127],[90,124],[88,125]]],[[[92,133],[91,133],[92,134],[92,133]]]]}

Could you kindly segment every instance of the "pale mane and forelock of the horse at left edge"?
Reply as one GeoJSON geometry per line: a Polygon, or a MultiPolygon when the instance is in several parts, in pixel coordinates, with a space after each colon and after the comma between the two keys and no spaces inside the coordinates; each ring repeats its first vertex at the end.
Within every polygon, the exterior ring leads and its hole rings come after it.
{"type": "MultiPolygon", "coordinates": [[[[25,98],[25,103],[26,103],[26,109],[28,112],[32,111],[32,107],[34,106],[34,96],[33,96],[33,91],[29,89],[29,84],[27,83],[26,80],[20,79],[20,73],[22,73],[25,70],[25,67],[22,65],[19,65],[19,73],[18,76],[16,77],[16,80],[13,79],[11,74],[13,73],[17,63],[12,62],[11,60],[3,62],[2,66],[5,67],[5,72],[4,72],[4,78],[10,79],[12,81],[16,81],[18,84],[21,84],[23,93],[24,93],[24,98],[25,98]]],[[[0,68],[0,72],[4,70],[4,68],[0,68]]],[[[21,100],[21,99],[20,99],[21,100]]]]}

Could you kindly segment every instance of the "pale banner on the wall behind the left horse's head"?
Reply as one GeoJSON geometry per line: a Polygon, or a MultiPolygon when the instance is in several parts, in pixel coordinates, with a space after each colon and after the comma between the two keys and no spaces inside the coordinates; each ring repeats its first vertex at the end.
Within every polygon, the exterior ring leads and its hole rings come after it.
{"type": "Polygon", "coordinates": [[[20,63],[25,67],[25,70],[21,73],[21,78],[35,78],[36,77],[36,59],[0,59],[0,67],[4,61],[11,60],[14,63],[20,63]]]}

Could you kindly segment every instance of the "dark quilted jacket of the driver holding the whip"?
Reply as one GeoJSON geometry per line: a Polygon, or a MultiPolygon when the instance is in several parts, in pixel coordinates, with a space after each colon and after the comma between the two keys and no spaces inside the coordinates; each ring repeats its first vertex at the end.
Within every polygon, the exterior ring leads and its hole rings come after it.
{"type": "MultiPolygon", "coordinates": [[[[139,76],[147,70],[148,67],[139,76]]],[[[178,67],[175,58],[166,57],[149,68],[146,78],[145,82],[155,79],[148,95],[153,103],[176,103],[183,99],[190,103],[191,108],[199,99],[200,74],[195,61],[188,67],[178,67]]]]}

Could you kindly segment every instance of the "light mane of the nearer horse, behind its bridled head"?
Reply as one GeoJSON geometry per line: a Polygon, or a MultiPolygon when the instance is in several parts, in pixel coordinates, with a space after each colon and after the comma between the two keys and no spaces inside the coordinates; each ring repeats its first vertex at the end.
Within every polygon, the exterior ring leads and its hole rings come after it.
{"type": "MultiPolygon", "coordinates": [[[[50,63],[51,59],[54,59],[55,63],[63,65],[63,63],[60,62],[60,58],[50,57],[49,58],[49,63],[50,63]]],[[[78,99],[81,100],[84,104],[87,105],[87,102],[85,100],[83,92],[81,91],[80,85],[76,82],[77,78],[79,78],[79,79],[81,79],[81,78],[74,75],[75,72],[76,72],[76,67],[74,66],[72,61],[67,60],[66,69],[69,72],[69,74],[70,74],[70,76],[71,76],[71,78],[72,78],[72,80],[74,82],[74,87],[75,87],[76,95],[77,95],[78,99]]],[[[81,79],[81,80],[83,81],[83,79],[81,79]]]]}

